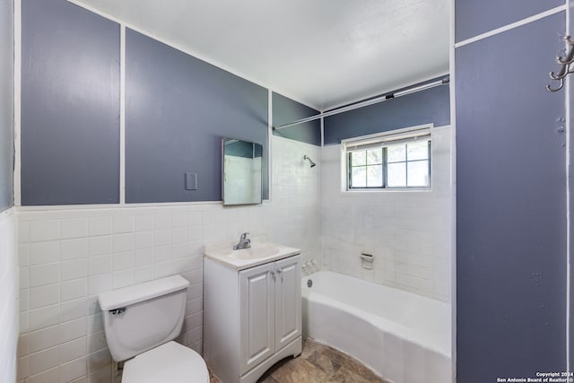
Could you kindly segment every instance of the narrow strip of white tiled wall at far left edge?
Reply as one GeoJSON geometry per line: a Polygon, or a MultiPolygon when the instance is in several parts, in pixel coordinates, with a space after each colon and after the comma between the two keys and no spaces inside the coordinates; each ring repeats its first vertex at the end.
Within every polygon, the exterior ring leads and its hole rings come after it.
{"type": "Polygon", "coordinates": [[[0,381],[4,383],[13,383],[17,375],[18,253],[13,211],[0,213],[0,381]]]}

